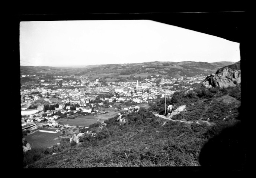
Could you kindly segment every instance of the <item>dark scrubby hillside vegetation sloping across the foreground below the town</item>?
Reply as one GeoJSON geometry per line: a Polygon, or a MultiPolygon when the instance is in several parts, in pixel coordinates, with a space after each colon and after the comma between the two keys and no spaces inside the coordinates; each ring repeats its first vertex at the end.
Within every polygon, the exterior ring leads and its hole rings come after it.
{"type": "Polygon", "coordinates": [[[175,92],[168,105],[186,105],[187,111],[170,121],[160,119],[151,111],[163,114],[164,100],[149,110],[141,108],[126,116],[126,123],[117,117],[104,121],[98,129],[94,123],[80,132],[80,143],[63,139],[53,148],[32,149],[24,153],[25,168],[69,167],[141,167],[198,166],[198,156],[208,139],[224,128],[239,124],[240,86],[227,89],[197,88],[190,92],[175,92]],[[183,121],[207,121],[185,123],[183,121]],[[53,154],[56,153],[56,154],[53,154]]]}

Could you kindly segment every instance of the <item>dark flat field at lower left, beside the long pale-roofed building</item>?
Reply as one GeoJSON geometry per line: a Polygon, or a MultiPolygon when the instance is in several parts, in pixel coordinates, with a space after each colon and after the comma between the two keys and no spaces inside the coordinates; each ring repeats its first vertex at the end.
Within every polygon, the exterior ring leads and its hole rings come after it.
{"type": "Polygon", "coordinates": [[[60,142],[60,139],[58,139],[59,135],[60,133],[46,133],[36,131],[35,133],[25,136],[25,139],[28,141],[32,148],[46,148],[60,142]]]}

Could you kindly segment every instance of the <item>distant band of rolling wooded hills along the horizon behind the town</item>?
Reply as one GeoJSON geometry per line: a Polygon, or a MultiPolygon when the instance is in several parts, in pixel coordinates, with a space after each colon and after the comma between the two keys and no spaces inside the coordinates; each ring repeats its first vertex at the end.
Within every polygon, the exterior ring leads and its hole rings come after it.
{"type": "MultiPolygon", "coordinates": [[[[89,66],[20,66],[20,75],[36,75],[51,79],[51,76],[87,76],[91,80],[102,79],[104,82],[143,80],[151,75],[177,78],[194,77],[215,73],[221,67],[232,62],[144,62],[128,64],[105,64],[89,66]]],[[[28,80],[28,79],[26,79],[28,80]]]]}

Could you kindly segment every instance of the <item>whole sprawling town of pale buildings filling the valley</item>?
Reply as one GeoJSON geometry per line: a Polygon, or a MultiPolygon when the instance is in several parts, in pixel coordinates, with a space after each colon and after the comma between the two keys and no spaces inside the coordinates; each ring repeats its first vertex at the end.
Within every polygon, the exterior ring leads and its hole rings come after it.
{"type": "MultiPolygon", "coordinates": [[[[79,76],[78,76],[79,77],[79,76]]],[[[167,79],[165,76],[155,78],[151,76],[150,79],[144,79],[138,82],[105,82],[107,86],[101,86],[99,79],[89,81],[87,77],[74,79],[70,81],[63,81],[63,78],[57,76],[56,79],[49,82],[49,80],[42,79],[41,83],[32,84],[30,83],[30,89],[23,88],[20,90],[21,95],[21,115],[28,116],[24,119],[23,124],[32,123],[34,121],[47,120],[49,126],[58,125],[56,119],[58,116],[52,115],[52,111],[46,113],[43,112],[44,107],[40,106],[34,109],[28,109],[26,106],[35,100],[44,99],[49,100],[56,98],[58,100],[58,108],[55,108],[55,112],[61,112],[63,114],[72,111],[76,113],[92,112],[92,107],[95,106],[95,100],[99,94],[108,94],[111,97],[100,98],[101,102],[98,102],[98,106],[103,106],[105,103],[109,103],[109,107],[113,107],[113,102],[125,103],[147,103],[158,97],[163,98],[164,96],[172,96],[175,92],[173,87],[176,85],[182,86],[185,89],[190,89],[190,85],[193,83],[199,83],[204,80],[205,76],[199,76],[195,78],[173,78],[167,79]],[[55,83],[57,82],[57,83],[55,83]],[[62,82],[62,85],[56,89],[47,86],[59,85],[58,82],[62,82]],[[65,86],[72,86],[73,88],[66,88],[65,86]],[[83,86],[81,88],[81,86],[83,86]],[[68,106],[65,105],[68,103],[68,106]],[[76,109],[72,109],[71,105],[76,105],[76,109]],[[45,114],[47,116],[45,116],[45,114]],[[25,121],[26,120],[26,121],[25,121]]],[[[23,84],[26,85],[26,84],[23,84]]],[[[129,107],[121,106],[121,109],[128,109],[129,107]]],[[[96,110],[98,111],[98,110],[96,110]]]]}

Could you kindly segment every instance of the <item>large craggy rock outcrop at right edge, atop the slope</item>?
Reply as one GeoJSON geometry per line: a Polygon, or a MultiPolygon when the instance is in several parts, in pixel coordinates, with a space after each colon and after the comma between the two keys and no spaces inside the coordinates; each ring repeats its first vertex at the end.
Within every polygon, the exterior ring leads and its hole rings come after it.
{"type": "Polygon", "coordinates": [[[202,82],[202,86],[205,88],[227,88],[229,86],[236,86],[239,83],[241,83],[240,61],[218,69],[215,74],[208,75],[202,82]]]}

